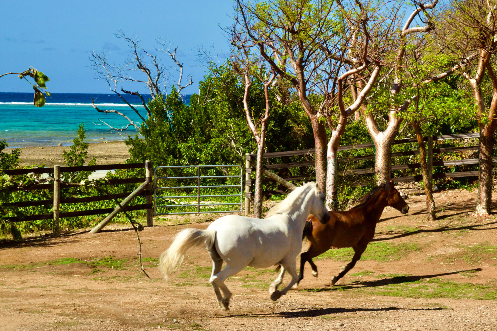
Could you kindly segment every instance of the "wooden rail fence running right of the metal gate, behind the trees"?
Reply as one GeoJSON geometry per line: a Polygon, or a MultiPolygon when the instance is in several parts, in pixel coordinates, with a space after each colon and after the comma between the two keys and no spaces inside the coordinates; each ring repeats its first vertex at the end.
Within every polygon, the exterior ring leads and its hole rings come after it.
{"type": "MultiPolygon", "coordinates": [[[[444,148],[433,148],[433,141],[437,140],[451,140],[451,139],[469,139],[469,138],[479,138],[480,133],[459,133],[459,134],[444,134],[444,135],[435,135],[432,137],[432,139],[428,139],[428,137],[423,137],[424,141],[428,141],[426,149],[427,149],[427,159],[428,159],[428,169],[432,169],[433,166],[454,166],[454,165],[471,165],[471,164],[478,164],[478,159],[462,159],[462,160],[449,160],[449,161],[432,161],[432,155],[433,154],[438,154],[438,153],[448,153],[448,152],[461,152],[461,151],[468,151],[468,150],[478,150],[478,146],[463,146],[463,147],[444,147],[444,148]]],[[[412,142],[417,142],[416,138],[404,138],[404,139],[398,139],[394,140],[392,145],[397,145],[397,144],[403,144],[403,143],[412,143],[412,142]]],[[[345,146],[339,146],[338,151],[345,151],[345,150],[350,150],[350,149],[363,149],[363,148],[372,148],[374,147],[374,144],[372,142],[368,143],[361,143],[361,144],[356,144],[356,145],[345,145],[345,146]]],[[[303,149],[303,150],[291,150],[291,151],[286,151],[286,152],[274,152],[274,153],[265,153],[263,158],[264,159],[272,159],[272,158],[279,158],[279,157],[288,157],[288,156],[294,156],[294,155],[307,155],[307,154],[314,154],[315,149],[303,149]]],[[[392,153],[392,157],[398,157],[398,156],[410,156],[410,155],[419,155],[419,150],[410,150],[410,151],[403,151],[403,152],[394,152],[392,153]]],[[[246,199],[252,199],[253,194],[251,192],[251,187],[255,183],[254,180],[250,179],[250,174],[255,172],[255,169],[253,167],[253,164],[255,164],[257,155],[256,154],[246,154],[246,190],[245,190],[245,197],[246,199]],[[251,165],[251,166],[250,166],[251,165]]],[[[362,160],[374,160],[375,155],[370,154],[370,155],[362,155],[362,156],[355,156],[351,159],[347,159],[347,161],[362,161],[362,160]]],[[[338,162],[344,162],[345,160],[343,159],[338,159],[338,162]]],[[[494,158],[494,162],[496,162],[496,158],[494,158]]],[[[274,171],[274,170],[279,170],[279,169],[289,169],[289,168],[296,168],[296,167],[308,167],[308,166],[314,166],[315,161],[298,161],[298,162],[288,162],[288,163],[274,163],[274,164],[265,164],[264,167],[265,169],[269,171],[274,171]]],[[[396,170],[407,170],[407,169],[416,169],[420,168],[421,165],[419,163],[410,163],[410,164],[399,164],[399,165],[393,165],[392,166],[392,171],[396,170]]],[[[374,173],[374,168],[364,168],[364,169],[351,169],[346,172],[346,175],[351,175],[351,174],[370,174],[374,173]]],[[[478,171],[459,171],[459,172],[449,172],[449,173],[436,173],[432,175],[434,179],[440,179],[440,178],[456,178],[456,177],[474,177],[478,176],[478,171]]],[[[281,177],[282,179],[286,181],[298,181],[298,180],[306,180],[309,179],[309,175],[302,175],[302,176],[283,176],[281,177]]],[[[400,183],[400,182],[410,182],[410,181],[421,181],[422,176],[421,175],[416,175],[416,176],[405,176],[405,177],[397,177],[393,178],[394,182],[400,183]]],[[[275,190],[275,191],[264,191],[264,195],[273,195],[273,194],[284,194],[283,190],[275,190]]]]}

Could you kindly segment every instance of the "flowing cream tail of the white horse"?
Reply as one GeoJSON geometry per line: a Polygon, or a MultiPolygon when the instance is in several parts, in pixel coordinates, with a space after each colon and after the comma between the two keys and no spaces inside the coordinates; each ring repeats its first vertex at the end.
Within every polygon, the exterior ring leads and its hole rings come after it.
{"type": "Polygon", "coordinates": [[[172,271],[183,262],[185,253],[190,247],[211,248],[215,239],[215,230],[185,229],[179,232],[171,246],[159,258],[159,271],[164,275],[164,279],[167,281],[172,271]]]}

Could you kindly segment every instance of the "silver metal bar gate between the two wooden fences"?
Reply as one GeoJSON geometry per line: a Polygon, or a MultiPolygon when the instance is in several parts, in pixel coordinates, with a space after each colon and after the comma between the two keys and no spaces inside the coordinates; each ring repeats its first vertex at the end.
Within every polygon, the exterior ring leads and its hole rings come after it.
{"type": "MultiPolygon", "coordinates": [[[[242,212],[242,203],[243,203],[243,177],[242,173],[243,169],[240,165],[198,165],[198,166],[161,166],[154,169],[154,216],[158,215],[182,215],[182,214],[206,214],[206,213],[225,213],[225,212],[242,212]],[[200,169],[203,168],[217,168],[217,167],[225,167],[225,168],[240,168],[240,175],[225,175],[225,176],[201,176],[200,169]],[[157,177],[158,169],[173,169],[173,168],[197,168],[196,176],[178,176],[178,177],[157,177]],[[240,178],[240,185],[200,185],[203,179],[214,179],[214,178],[240,178]],[[158,181],[162,180],[194,180],[196,179],[196,185],[190,186],[158,186],[158,181]],[[240,194],[222,194],[222,195],[201,195],[202,189],[216,189],[216,188],[240,188],[240,194]],[[157,195],[158,190],[175,190],[176,192],[179,190],[185,189],[196,189],[196,195],[185,195],[185,196],[168,196],[168,195],[157,195]],[[201,199],[203,198],[221,198],[221,197],[240,197],[240,202],[235,203],[201,203],[201,199]],[[171,200],[171,199],[191,199],[196,198],[196,203],[180,203],[180,204],[158,204],[158,200],[171,200]],[[202,211],[200,207],[208,207],[208,206],[221,206],[221,205],[239,205],[240,209],[237,210],[209,210],[202,211]],[[158,213],[157,208],[173,208],[173,207],[197,207],[196,211],[186,211],[186,212],[162,212],[158,213]]],[[[209,202],[209,201],[206,201],[209,202]]]]}

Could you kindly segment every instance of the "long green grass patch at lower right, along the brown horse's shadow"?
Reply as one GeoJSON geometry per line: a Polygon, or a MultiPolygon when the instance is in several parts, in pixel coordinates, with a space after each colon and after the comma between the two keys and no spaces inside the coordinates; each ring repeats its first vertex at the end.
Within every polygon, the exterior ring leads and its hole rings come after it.
{"type": "MultiPolygon", "coordinates": [[[[357,295],[394,296],[404,298],[453,298],[495,300],[497,288],[493,284],[473,284],[444,280],[441,278],[412,280],[411,277],[397,276],[392,283],[378,285],[375,282],[361,282],[364,286],[339,285],[331,288],[314,288],[302,291],[347,291],[357,295]]],[[[381,284],[381,283],[379,283],[381,284]]]]}

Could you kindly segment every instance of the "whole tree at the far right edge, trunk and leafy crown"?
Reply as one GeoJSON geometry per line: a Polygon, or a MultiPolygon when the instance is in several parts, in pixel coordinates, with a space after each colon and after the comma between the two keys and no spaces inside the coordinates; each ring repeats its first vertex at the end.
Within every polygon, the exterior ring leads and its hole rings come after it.
{"type": "Polygon", "coordinates": [[[459,71],[469,83],[480,130],[478,199],[475,215],[487,215],[492,202],[492,156],[497,126],[497,76],[492,57],[497,54],[497,1],[455,0],[440,18],[439,36],[445,41],[445,53],[466,58],[469,65],[459,71]],[[471,55],[476,56],[471,57],[471,55]],[[493,93],[482,92],[484,78],[492,82],[493,93]]]}

